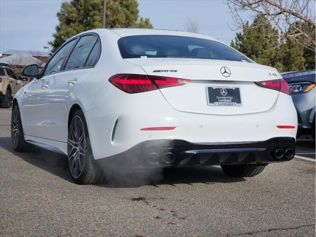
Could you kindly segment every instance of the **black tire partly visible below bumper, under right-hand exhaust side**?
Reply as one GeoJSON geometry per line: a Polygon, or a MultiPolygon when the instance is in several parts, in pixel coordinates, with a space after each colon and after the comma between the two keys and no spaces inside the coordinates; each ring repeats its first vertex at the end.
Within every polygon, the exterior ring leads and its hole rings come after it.
{"type": "Polygon", "coordinates": [[[252,177],[260,174],[266,167],[266,165],[221,165],[226,174],[232,177],[252,177]]]}

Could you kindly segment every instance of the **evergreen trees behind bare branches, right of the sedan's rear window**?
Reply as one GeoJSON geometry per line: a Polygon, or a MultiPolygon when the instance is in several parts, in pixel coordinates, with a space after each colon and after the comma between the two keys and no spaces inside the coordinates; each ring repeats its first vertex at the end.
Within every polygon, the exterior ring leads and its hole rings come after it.
{"type": "Polygon", "coordinates": [[[251,25],[247,22],[231,46],[255,62],[275,67],[279,72],[315,69],[314,51],[295,40],[281,42],[276,28],[261,24],[261,19],[257,17],[251,25]]]}

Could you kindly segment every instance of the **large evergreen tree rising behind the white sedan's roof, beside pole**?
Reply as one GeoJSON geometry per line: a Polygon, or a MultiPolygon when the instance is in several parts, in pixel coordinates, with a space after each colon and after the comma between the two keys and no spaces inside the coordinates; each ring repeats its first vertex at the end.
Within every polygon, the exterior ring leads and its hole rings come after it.
{"type": "MultiPolygon", "coordinates": [[[[71,0],[63,2],[57,13],[54,40],[48,43],[56,51],[67,39],[83,31],[102,28],[102,0],[71,0]]],[[[139,18],[136,0],[107,0],[106,28],[153,28],[149,18],[139,18]]]]}

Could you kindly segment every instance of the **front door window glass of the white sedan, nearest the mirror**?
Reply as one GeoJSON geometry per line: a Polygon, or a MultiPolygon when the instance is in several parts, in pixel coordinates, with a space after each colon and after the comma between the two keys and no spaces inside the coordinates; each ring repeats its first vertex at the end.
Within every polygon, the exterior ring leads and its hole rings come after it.
{"type": "Polygon", "coordinates": [[[64,59],[67,56],[69,50],[74,45],[75,41],[76,40],[72,40],[69,43],[67,43],[52,57],[52,59],[48,62],[46,66],[46,70],[43,76],[60,71],[61,66],[63,65],[64,59]]]}

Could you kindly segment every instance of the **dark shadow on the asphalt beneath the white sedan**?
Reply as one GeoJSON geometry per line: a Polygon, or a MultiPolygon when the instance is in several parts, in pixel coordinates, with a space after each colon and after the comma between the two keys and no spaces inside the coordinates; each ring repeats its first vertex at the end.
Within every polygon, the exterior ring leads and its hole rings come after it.
{"type": "MultiPolygon", "coordinates": [[[[69,172],[67,157],[41,148],[34,152],[15,152],[10,137],[0,137],[0,148],[22,158],[47,172],[74,183],[69,172]]],[[[218,166],[192,166],[175,168],[142,168],[142,169],[107,169],[106,178],[97,184],[108,188],[135,188],[145,185],[171,185],[196,183],[234,183],[245,181],[244,178],[227,176],[218,166]]]]}

